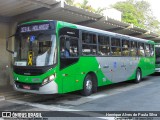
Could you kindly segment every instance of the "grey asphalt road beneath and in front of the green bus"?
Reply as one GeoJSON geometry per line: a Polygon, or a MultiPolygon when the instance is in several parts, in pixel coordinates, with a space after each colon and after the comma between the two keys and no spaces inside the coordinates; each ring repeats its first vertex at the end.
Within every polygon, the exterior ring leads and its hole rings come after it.
{"type": "Polygon", "coordinates": [[[100,87],[88,97],[79,92],[43,96],[7,93],[6,100],[0,101],[0,111],[44,111],[43,114],[54,116],[55,120],[108,119],[99,111],[160,111],[159,76],[145,77],[139,84],[123,82],[100,87]]]}

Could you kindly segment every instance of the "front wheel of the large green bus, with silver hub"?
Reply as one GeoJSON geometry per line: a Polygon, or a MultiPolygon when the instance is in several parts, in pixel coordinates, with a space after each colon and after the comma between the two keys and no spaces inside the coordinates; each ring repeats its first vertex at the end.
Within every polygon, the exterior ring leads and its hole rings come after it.
{"type": "Polygon", "coordinates": [[[93,80],[92,76],[88,74],[84,79],[82,95],[89,96],[92,94],[92,92],[93,92],[93,80]]]}

